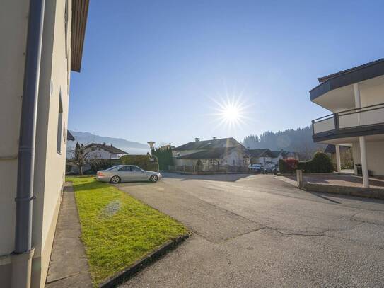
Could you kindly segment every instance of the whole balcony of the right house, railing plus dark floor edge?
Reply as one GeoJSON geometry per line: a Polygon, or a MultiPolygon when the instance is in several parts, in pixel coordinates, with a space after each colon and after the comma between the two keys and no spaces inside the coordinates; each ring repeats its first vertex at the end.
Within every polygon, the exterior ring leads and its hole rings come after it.
{"type": "Polygon", "coordinates": [[[327,115],[312,121],[313,141],[384,134],[384,103],[327,115]]]}

